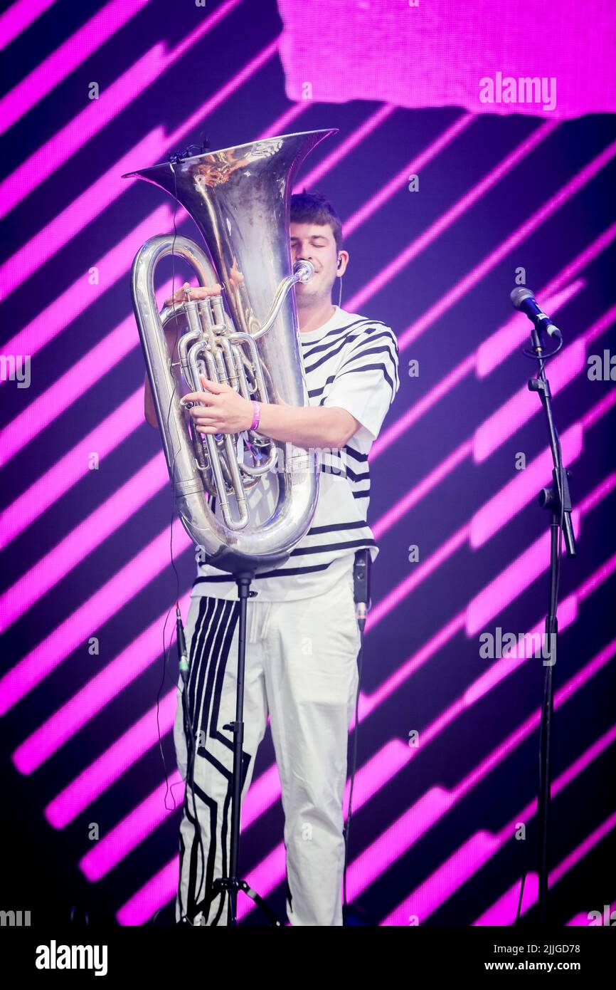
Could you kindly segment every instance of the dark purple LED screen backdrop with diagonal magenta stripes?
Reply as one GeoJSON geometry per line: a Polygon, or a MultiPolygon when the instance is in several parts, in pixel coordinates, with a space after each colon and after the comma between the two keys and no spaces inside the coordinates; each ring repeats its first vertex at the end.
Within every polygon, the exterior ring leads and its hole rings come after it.
{"type": "MultiPolygon", "coordinates": [[[[548,601],[551,459],[509,301],[526,284],[565,338],[548,374],[578,537],[555,666],[554,920],[614,906],[615,15],[550,3],[535,23],[518,4],[520,32],[513,8],[499,25],[479,2],[385,6],[16,0],[0,19],[4,909],[44,898],[143,925],[177,884],[169,609],[179,597],[186,617],[195,556],[143,422],[130,269],[174,219],[199,235],[122,175],[330,127],[297,189],[338,210],[343,306],[394,329],[401,382],[371,453],[381,553],[349,900],[363,924],[510,925],[526,874],[522,921],[536,911],[545,667],[503,646],[539,633],[548,601]]],[[[159,270],[159,301],[190,275],[159,270]]],[[[242,873],[284,917],[269,733],[242,830],[242,873]]]]}

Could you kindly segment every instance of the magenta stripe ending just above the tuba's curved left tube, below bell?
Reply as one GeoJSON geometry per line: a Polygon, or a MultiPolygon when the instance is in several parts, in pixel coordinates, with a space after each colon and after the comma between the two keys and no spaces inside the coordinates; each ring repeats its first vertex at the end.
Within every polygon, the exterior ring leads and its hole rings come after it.
{"type": "Polygon", "coordinates": [[[99,302],[101,296],[130,271],[132,258],[143,242],[151,237],[152,231],[166,231],[172,223],[173,215],[166,204],[150,213],[115,247],[88,266],[88,268],[98,268],[101,279],[98,285],[88,285],[88,271],[83,271],[72,285],[45,306],[39,316],[4,345],[5,353],[32,356],[53,341],[73,320],[99,302]],[[87,291],[84,291],[84,285],[88,286],[87,291]]]}

